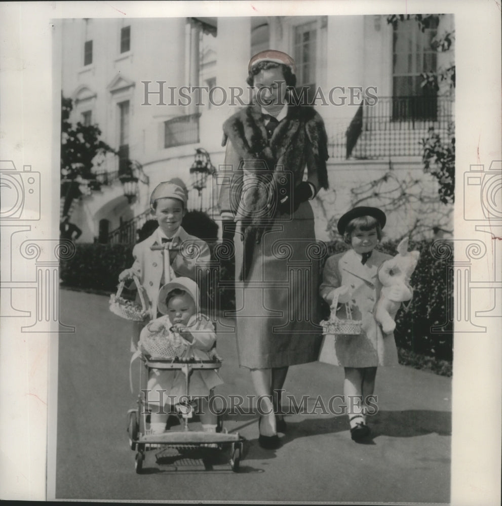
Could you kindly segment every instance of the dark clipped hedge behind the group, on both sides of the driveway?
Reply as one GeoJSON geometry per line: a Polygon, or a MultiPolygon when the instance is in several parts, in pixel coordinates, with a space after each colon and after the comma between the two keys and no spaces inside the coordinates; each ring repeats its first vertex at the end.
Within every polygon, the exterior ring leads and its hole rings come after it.
{"type": "MultiPolygon", "coordinates": [[[[210,243],[211,251],[215,243],[210,243]]],[[[397,242],[386,242],[378,249],[390,255],[396,254],[397,242]]],[[[114,292],[117,289],[119,273],[133,263],[132,247],[124,244],[75,244],[75,255],[61,262],[60,278],[64,285],[84,289],[114,292]]],[[[327,244],[328,256],[346,249],[343,242],[327,244]]],[[[410,250],[418,249],[420,258],[410,284],[413,286],[413,300],[402,305],[396,316],[394,332],[399,348],[412,353],[452,360],[453,324],[447,321],[447,308],[452,307],[453,287],[448,285],[448,266],[444,259],[437,259],[429,241],[410,241],[410,250]],[[446,323],[444,333],[433,333],[431,327],[446,323]]],[[[327,257],[326,257],[327,258],[327,257]]],[[[326,259],[321,262],[321,268],[326,259]]],[[[226,262],[220,268],[220,279],[231,279],[233,263],[226,262]]],[[[222,309],[234,308],[233,290],[226,290],[221,297],[222,309]]],[[[213,297],[209,294],[209,297],[213,297]]],[[[204,302],[203,302],[204,305],[204,302]]],[[[326,314],[327,306],[324,306],[326,314]]]]}

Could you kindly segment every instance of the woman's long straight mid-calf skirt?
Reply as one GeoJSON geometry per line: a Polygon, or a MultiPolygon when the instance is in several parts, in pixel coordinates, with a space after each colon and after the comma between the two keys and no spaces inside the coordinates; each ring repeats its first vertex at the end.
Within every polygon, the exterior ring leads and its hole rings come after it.
{"type": "Polygon", "coordinates": [[[239,364],[267,369],[316,361],[322,339],[319,260],[325,246],[315,239],[310,203],[276,218],[256,245],[244,282],[237,280],[244,261],[238,232],[235,245],[239,364]]]}

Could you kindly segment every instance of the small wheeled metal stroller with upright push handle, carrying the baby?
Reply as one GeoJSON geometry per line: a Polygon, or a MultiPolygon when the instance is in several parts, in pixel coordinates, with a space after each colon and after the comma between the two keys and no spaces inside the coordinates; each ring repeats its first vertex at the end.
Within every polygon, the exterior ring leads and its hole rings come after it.
{"type": "MultiPolygon", "coordinates": [[[[172,269],[169,265],[169,251],[178,248],[167,243],[165,245],[153,245],[151,249],[162,250],[165,282],[172,277],[172,269]]],[[[154,454],[158,466],[169,466],[178,469],[186,462],[194,459],[204,463],[204,469],[213,469],[213,463],[227,461],[232,471],[239,470],[240,460],[243,453],[244,438],[239,433],[228,433],[223,428],[222,414],[218,414],[216,432],[203,432],[192,430],[188,421],[194,416],[195,403],[190,398],[190,375],[198,369],[217,370],[221,367],[221,359],[215,350],[210,354],[212,359],[203,360],[184,355],[172,359],[146,358],[137,352],[132,361],[140,357],[142,364],[139,373],[139,395],[137,408],[130,409],[127,413],[127,432],[129,434],[129,446],[136,451],[135,469],[141,473],[145,468],[147,457],[154,454]],[[174,415],[180,421],[179,426],[171,427],[161,434],[153,434],[149,429],[148,405],[144,398],[147,392],[147,382],[151,369],[180,370],[184,376],[186,399],[188,402],[177,404],[174,412],[170,413],[169,419],[174,415]]],[[[131,379],[132,390],[132,379],[131,379]]],[[[168,425],[169,422],[168,422],[168,425]]]]}

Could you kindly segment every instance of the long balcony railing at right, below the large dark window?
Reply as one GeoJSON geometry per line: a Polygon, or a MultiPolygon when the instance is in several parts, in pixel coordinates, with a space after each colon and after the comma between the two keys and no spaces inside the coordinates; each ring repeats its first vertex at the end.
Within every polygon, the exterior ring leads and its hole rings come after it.
{"type": "Polygon", "coordinates": [[[378,97],[375,105],[359,107],[345,131],[335,125],[330,132],[328,126],[329,154],[337,159],[420,156],[429,129],[446,139],[451,121],[449,97],[378,97]]]}

